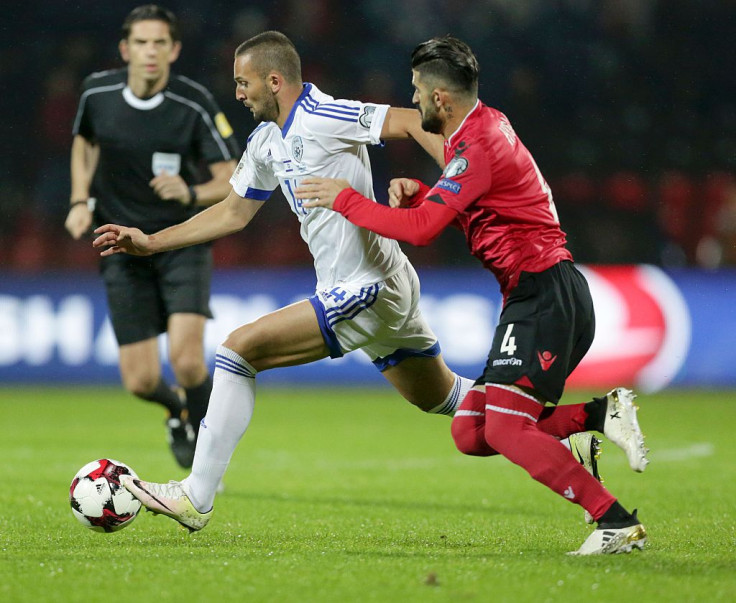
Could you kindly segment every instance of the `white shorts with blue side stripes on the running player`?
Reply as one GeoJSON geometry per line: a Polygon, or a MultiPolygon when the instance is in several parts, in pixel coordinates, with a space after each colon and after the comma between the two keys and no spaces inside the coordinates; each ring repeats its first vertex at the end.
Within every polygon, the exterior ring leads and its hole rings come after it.
{"type": "Polygon", "coordinates": [[[419,311],[419,278],[410,262],[385,281],[322,289],[309,301],[332,358],[363,350],[384,371],[408,357],[440,353],[419,311]]]}

